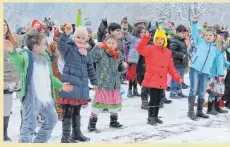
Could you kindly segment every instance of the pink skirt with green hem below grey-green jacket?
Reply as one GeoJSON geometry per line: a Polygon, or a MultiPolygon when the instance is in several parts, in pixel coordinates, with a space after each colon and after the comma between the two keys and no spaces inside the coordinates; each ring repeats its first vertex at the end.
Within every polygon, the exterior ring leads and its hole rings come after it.
{"type": "Polygon", "coordinates": [[[117,109],[122,106],[120,90],[97,90],[92,103],[94,108],[117,109]]]}

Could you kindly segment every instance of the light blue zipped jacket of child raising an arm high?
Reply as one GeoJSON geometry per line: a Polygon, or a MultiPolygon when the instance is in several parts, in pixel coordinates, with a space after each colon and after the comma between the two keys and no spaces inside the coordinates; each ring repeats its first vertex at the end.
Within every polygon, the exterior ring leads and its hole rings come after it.
{"type": "Polygon", "coordinates": [[[197,45],[197,50],[192,56],[190,67],[209,75],[213,64],[216,64],[217,72],[221,73],[222,68],[218,66],[221,63],[216,58],[221,55],[222,51],[217,49],[216,43],[209,43],[202,39],[198,34],[196,23],[192,24],[192,37],[197,45]],[[215,59],[217,62],[214,62],[215,59]]]}

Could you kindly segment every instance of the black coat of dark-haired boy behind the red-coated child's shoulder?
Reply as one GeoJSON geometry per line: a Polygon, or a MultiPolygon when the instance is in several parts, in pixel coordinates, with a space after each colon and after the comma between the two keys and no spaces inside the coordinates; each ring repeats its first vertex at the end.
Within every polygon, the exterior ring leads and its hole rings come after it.
{"type": "Polygon", "coordinates": [[[186,68],[188,66],[188,52],[185,40],[179,36],[173,36],[170,39],[169,49],[172,51],[175,67],[186,68]]]}

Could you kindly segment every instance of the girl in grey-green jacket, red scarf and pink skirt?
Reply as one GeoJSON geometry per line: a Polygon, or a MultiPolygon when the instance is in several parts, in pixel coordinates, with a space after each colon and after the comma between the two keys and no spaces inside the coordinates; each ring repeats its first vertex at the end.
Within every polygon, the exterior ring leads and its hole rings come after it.
{"type": "Polygon", "coordinates": [[[97,117],[103,109],[110,110],[110,127],[122,127],[117,121],[117,112],[120,110],[122,102],[119,72],[123,69],[123,59],[117,47],[117,37],[110,34],[100,48],[95,46],[91,51],[93,61],[97,63],[96,73],[99,84],[93,100],[93,108],[88,125],[88,130],[90,132],[97,131],[97,117]]]}

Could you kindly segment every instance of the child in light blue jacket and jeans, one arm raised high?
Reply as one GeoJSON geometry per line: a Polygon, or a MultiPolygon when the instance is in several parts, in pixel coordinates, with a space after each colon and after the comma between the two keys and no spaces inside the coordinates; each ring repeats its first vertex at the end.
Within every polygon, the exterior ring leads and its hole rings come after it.
{"type": "MultiPolygon", "coordinates": [[[[194,16],[192,23],[192,37],[197,46],[196,52],[192,56],[190,61],[190,92],[188,98],[188,117],[191,120],[197,120],[198,117],[209,118],[208,115],[205,115],[202,110],[204,106],[204,96],[207,88],[208,77],[212,64],[217,58],[221,51],[217,48],[220,48],[219,40],[215,31],[212,28],[208,28],[205,32],[204,39],[200,37],[197,31],[197,16],[194,16]],[[215,43],[215,41],[217,43],[215,43]],[[197,114],[194,113],[194,103],[198,95],[198,106],[197,114]]],[[[217,72],[220,73],[219,63],[215,63],[217,66],[217,72]]]]}

